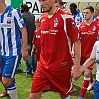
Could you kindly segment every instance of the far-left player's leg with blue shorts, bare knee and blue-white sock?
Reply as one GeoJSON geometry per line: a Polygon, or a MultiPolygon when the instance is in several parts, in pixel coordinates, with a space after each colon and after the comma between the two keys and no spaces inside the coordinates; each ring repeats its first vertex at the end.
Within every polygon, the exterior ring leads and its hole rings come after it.
{"type": "Polygon", "coordinates": [[[16,82],[14,75],[17,71],[21,59],[21,55],[3,57],[2,82],[7,88],[7,92],[11,99],[17,99],[16,82]]]}

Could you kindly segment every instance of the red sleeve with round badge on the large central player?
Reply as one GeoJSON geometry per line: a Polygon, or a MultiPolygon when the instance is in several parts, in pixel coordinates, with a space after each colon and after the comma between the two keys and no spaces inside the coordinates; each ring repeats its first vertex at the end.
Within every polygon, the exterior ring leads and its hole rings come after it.
{"type": "Polygon", "coordinates": [[[73,21],[72,18],[66,19],[66,28],[67,28],[67,34],[71,38],[72,42],[75,42],[79,39],[79,32],[78,28],[76,26],[76,23],[73,21]]]}

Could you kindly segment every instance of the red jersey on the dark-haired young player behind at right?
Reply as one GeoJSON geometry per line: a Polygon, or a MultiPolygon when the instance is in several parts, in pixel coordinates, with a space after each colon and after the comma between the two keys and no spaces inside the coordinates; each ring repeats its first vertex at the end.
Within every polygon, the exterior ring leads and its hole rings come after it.
{"type": "Polygon", "coordinates": [[[94,43],[98,40],[99,24],[93,21],[87,25],[85,22],[80,23],[79,32],[81,36],[81,55],[89,58],[94,43]]]}

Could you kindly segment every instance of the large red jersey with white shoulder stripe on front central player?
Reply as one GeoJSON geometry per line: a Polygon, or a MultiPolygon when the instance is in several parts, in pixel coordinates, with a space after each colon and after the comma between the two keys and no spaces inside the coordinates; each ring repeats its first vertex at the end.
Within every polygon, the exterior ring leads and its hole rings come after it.
{"type": "Polygon", "coordinates": [[[72,16],[62,9],[51,17],[44,13],[40,18],[40,29],[42,67],[62,71],[73,66],[71,45],[79,39],[79,33],[72,16]]]}

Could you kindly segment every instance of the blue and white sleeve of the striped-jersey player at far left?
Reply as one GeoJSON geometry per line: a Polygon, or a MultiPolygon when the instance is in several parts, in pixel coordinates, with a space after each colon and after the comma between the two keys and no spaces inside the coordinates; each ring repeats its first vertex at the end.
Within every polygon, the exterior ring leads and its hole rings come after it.
{"type": "Polygon", "coordinates": [[[13,17],[14,17],[15,25],[16,25],[19,29],[26,26],[26,25],[25,25],[25,22],[24,22],[24,20],[23,20],[23,18],[22,18],[22,15],[21,15],[21,13],[20,13],[19,10],[16,10],[16,9],[15,9],[15,10],[13,11],[13,17]]]}

